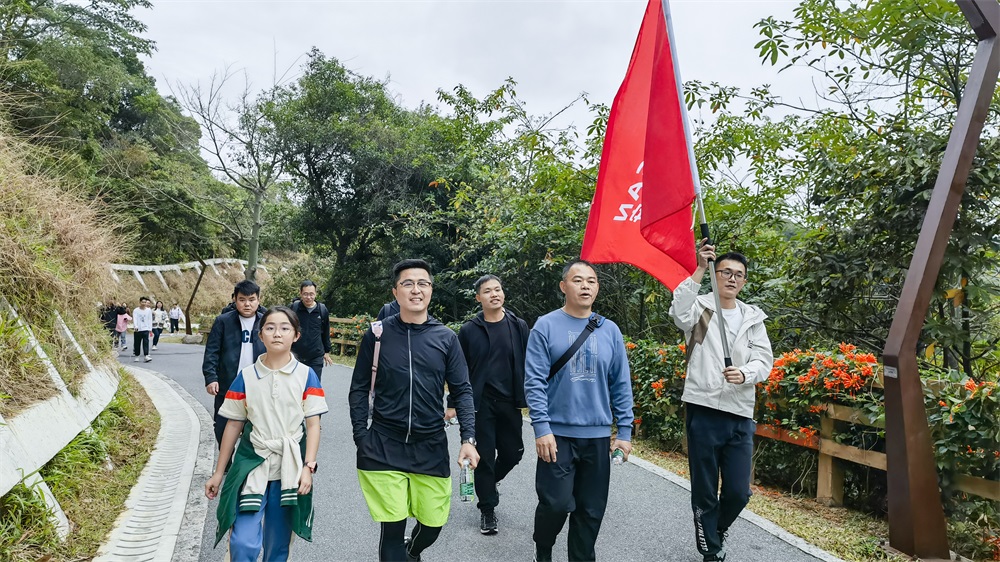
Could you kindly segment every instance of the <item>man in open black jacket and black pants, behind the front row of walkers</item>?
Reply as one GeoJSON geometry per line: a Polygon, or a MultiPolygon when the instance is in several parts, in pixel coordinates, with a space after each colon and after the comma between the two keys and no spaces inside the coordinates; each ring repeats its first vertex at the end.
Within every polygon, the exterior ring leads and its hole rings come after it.
{"type": "MultiPolygon", "coordinates": [[[[483,275],[475,285],[483,311],[462,325],[458,341],[469,365],[469,382],[476,405],[476,440],[480,459],[476,467],[476,496],[481,512],[479,531],[497,533],[497,484],[524,455],[521,408],[524,402],[524,352],[528,325],[504,308],[500,278],[483,275]]],[[[449,398],[449,407],[451,396],[449,398]]],[[[451,418],[455,410],[448,410],[451,418]]]]}

